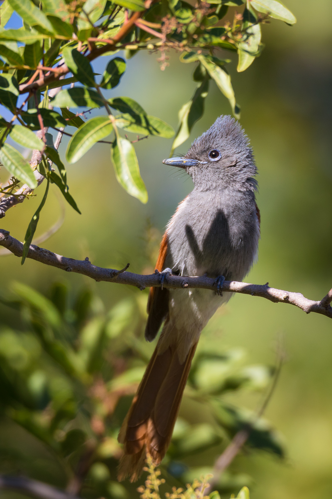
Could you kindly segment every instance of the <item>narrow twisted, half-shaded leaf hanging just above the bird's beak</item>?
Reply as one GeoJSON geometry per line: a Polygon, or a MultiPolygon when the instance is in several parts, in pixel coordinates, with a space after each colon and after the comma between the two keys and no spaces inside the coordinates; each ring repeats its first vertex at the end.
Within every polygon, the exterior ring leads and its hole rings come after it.
{"type": "Polygon", "coordinates": [[[198,85],[193,96],[186,104],[183,104],[178,113],[179,127],[177,129],[170,154],[179,145],[183,144],[190,135],[191,129],[204,114],[204,101],[209,91],[208,77],[198,85]]]}

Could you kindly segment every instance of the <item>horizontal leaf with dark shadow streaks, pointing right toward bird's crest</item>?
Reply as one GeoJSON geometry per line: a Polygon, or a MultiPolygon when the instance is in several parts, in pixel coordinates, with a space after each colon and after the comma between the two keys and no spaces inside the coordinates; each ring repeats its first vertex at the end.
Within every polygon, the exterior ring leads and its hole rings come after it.
{"type": "Polygon", "coordinates": [[[127,132],[156,135],[165,139],[170,139],[174,135],[172,127],[156,116],[132,116],[129,113],[125,113],[116,116],[115,121],[119,128],[127,132]]]}

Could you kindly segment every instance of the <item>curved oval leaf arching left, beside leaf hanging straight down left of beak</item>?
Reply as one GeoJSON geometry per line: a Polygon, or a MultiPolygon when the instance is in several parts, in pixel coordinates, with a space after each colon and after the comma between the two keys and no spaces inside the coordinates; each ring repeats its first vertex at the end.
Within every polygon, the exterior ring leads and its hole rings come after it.
{"type": "Polygon", "coordinates": [[[68,163],[76,163],[98,140],[112,131],[112,121],[108,116],[97,116],[83,123],[69,141],[66,152],[68,163]]]}

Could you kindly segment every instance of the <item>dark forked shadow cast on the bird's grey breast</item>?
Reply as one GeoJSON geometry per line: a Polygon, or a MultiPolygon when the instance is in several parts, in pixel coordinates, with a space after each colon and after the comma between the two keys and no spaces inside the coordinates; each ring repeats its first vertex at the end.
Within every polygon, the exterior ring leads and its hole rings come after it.
{"type": "Polygon", "coordinates": [[[218,210],[215,217],[203,238],[201,250],[197,242],[192,227],[189,224],[185,226],[185,234],[188,240],[190,250],[195,259],[196,268],[208,268],[209,277],[224,275],[226,280],[231,280],[231,273],[227,268],[222,268],[222,255],[229,252],[232,248],[229,225],[225,214],[218,210]]]}

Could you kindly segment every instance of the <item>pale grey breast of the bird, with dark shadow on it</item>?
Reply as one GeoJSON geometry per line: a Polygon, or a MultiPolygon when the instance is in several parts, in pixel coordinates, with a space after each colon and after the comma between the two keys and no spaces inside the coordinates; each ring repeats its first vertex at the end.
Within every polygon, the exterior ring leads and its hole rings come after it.
{"type": "Polygon", "coordinates": [[[254,193],[194,189],[179,206],[167,234],[165,266],[174,272],[242,280],[258,249],[254,193]]]}

